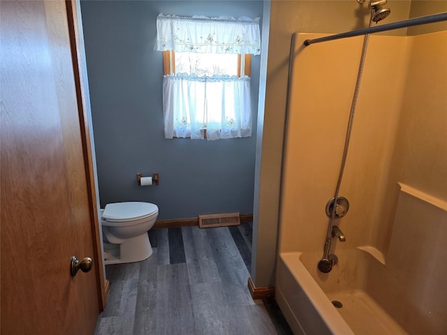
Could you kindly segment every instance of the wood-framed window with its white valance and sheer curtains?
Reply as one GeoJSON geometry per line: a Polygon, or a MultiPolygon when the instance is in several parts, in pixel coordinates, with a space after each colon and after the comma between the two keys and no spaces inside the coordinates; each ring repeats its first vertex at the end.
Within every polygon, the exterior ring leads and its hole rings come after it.
{"type": "Polygon", "coordinates": [[[251,54],[260,53],[258,19],[157,18],[163,51],[165,137],[251,136],[251,54]]]}

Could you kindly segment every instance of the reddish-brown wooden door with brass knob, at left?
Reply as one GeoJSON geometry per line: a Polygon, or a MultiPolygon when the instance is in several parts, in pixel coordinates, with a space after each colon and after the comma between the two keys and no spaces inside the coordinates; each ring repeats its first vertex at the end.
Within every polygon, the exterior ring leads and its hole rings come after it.
{"type": "Polygon", "coordinates": [[[93,334],[103,276],[73,22],[60,0],[0,15],[0,331],[93,334]],[[73,255],[93,269],[72,277],[73,255]]]}

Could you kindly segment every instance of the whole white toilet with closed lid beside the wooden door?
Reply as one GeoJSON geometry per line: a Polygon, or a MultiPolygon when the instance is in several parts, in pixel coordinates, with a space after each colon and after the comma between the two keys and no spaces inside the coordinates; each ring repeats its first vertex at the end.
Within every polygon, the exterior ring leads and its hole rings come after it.
{"type": "Polygon", "coordinates": [[[147,231],[159,215],[150,202],[115,202],[101,209],[105,265],[140,262],[152,255],[147,231]]]}

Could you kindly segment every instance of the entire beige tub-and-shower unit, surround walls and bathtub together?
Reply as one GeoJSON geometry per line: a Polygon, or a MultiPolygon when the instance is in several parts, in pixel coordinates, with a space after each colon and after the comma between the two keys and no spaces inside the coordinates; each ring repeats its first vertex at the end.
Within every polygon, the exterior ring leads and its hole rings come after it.
{"type": "Polygon", "coordinates": [[[333,239],[339,263],[329,274],[316,265],[362,37],[301,46],[320,36],[295,38],[278,304],[295,334],[444,334],[447,270],[439,265],[447,239],[447,31],[369,38],[339,193],[351,204],[336,220],[346,243],[333,239]]]}

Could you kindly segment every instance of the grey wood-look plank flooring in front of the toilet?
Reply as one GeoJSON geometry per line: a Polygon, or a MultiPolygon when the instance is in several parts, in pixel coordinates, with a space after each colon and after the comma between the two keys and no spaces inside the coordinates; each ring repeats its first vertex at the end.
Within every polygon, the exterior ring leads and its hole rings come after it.
{"type": "Polygon", "coordinates": [[[157,229],[149,239],[147,260],[106,267],[95,335],[293,334],[274,299],[249,294],[251,223],[157,229]]]}

